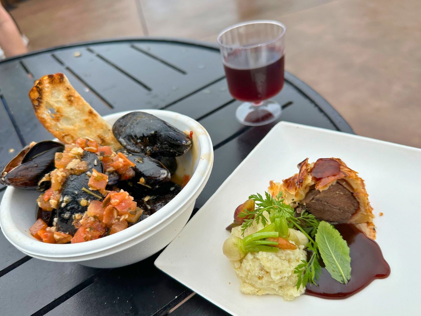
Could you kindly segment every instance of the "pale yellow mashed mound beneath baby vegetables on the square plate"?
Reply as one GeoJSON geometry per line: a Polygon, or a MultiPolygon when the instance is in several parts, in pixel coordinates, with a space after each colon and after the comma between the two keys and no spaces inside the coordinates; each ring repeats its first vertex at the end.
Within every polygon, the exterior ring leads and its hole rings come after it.
{"type": "MultiPolygon", "coordinates": [[[[269,218],[269,216],[266,216],[269,218]]],[[[255,233],[264,226],[256,222],[245,230],[244,236],[255,233]]],[[[241,227],[235,227],[231,236],[241,236],[241,227]]],[[[240,280],[240,291],[245,294],[277,294],[284,300],[293,300],[304,293],[304,287],[297,290],[298,277],[294,268],[306,260],[304,246],[296,250],[280,249],[278,252],[248,253],[243,259],[231,261],[231,264],[240,280]]]]}

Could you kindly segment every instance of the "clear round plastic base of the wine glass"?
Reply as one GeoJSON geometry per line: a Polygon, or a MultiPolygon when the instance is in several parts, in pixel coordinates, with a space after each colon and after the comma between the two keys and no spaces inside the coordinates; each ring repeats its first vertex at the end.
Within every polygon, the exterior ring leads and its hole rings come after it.
{"type": "Polygon", "coordinates": [[[282,107],[273,101],[264,101],[260,105],[244,102],[237,107],[235,118],[248,126],[260,126],[272,123],[281,115],[282,107]]]}

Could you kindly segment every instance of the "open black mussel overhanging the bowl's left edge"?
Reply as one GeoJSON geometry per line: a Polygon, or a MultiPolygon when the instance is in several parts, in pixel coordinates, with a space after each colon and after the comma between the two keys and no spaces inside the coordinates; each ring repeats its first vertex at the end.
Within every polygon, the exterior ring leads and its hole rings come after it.
{"type": "Polygon", "coordinates": [[[64,145],[51,140],[25,147],[0,174],[0,183],[18,189],[36,190],[38,182],[54,169],[56,153],[64,145]]]}

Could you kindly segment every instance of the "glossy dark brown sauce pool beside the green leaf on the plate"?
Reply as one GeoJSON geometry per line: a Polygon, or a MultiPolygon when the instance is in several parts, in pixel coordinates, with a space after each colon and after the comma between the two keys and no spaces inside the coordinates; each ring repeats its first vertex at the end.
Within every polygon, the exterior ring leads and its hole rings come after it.
{"type": "Polygon", "coordinates": [[[374,279],[384,279],[390,274],[389,264],[384,260],[380,247],[352,224],[337,224],[335,228],[349,246],[351,279],[341,284],[333,279],[325,268],[319,286],[306,286],[306,294],[326,299],[342,299],[364,289],[374,279]]]}

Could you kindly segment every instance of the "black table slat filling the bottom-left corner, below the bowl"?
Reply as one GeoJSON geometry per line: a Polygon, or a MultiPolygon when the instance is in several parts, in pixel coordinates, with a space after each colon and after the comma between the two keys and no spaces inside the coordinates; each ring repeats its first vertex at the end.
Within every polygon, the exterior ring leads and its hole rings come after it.
{"type": "Polygon", "coordinates": [[[31,315],[99,272],[75,263],[31,259],[0,278],[2,315],[31,315]]]}

